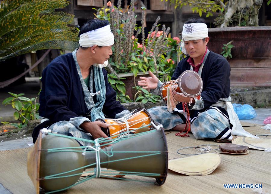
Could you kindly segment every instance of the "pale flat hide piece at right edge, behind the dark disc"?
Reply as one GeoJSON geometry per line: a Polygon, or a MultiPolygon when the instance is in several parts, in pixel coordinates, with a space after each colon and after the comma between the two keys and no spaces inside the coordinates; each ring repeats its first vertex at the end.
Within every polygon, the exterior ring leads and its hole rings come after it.
{"type": "Polygon", "coordinates": [[[265,150],[271,148],[271,139],[269,138],[253,138],[253,137],[235,137],[232,141],[233,144],[248,146],[252,149],[265,150]]]}

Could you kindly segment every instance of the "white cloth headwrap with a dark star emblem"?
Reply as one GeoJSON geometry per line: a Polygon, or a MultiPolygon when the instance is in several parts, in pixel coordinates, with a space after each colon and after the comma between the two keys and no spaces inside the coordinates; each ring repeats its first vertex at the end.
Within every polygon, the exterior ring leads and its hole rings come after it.
{"type": "Polygon", "coordinates": [[[208,28],[205,23],[185,23],[181,34],[181,51],[187,55],[184,40],[198,40],[208,37],[208,28]]]}

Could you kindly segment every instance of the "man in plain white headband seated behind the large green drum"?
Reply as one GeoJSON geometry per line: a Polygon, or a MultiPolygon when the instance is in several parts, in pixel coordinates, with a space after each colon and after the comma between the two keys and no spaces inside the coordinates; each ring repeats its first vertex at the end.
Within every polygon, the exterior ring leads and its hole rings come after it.
{"type": "MultiPolygon", "coordinates": [[[[55,58],[43,70],[39,115],[45,119],[34,129],[33,142],[42,128],[84,139],[106,138],[101,128],[109,125],[96,119],[129,113],[116,101],[103,68],[114,44],[109,22],[89,20],[79,36],[78,49],[55,58]]],[[[84,141],[78,142],[85,146],[84,141]]]]}

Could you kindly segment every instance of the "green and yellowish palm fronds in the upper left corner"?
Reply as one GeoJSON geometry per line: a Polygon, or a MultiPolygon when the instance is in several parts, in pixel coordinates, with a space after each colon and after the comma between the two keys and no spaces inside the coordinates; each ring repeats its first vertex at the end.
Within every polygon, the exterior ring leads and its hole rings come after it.
{"type": "Polygon", "coordinates": [[[0,4],[0,60],[46,48],[74,50],[74,15],[56,12],[67,0],[4,0],[0,4]]]}

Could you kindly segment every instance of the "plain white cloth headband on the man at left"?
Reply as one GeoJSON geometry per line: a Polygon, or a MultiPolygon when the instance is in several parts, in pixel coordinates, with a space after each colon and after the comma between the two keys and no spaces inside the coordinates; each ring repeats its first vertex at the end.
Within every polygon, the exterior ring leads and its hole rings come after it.
{"type": "Polygon", "coordinates": [[[94,45],[106,47],[114,45],[114,35],[109,24],[80,35],[79,44],[81,47],[92,47],[94,45]]]}

